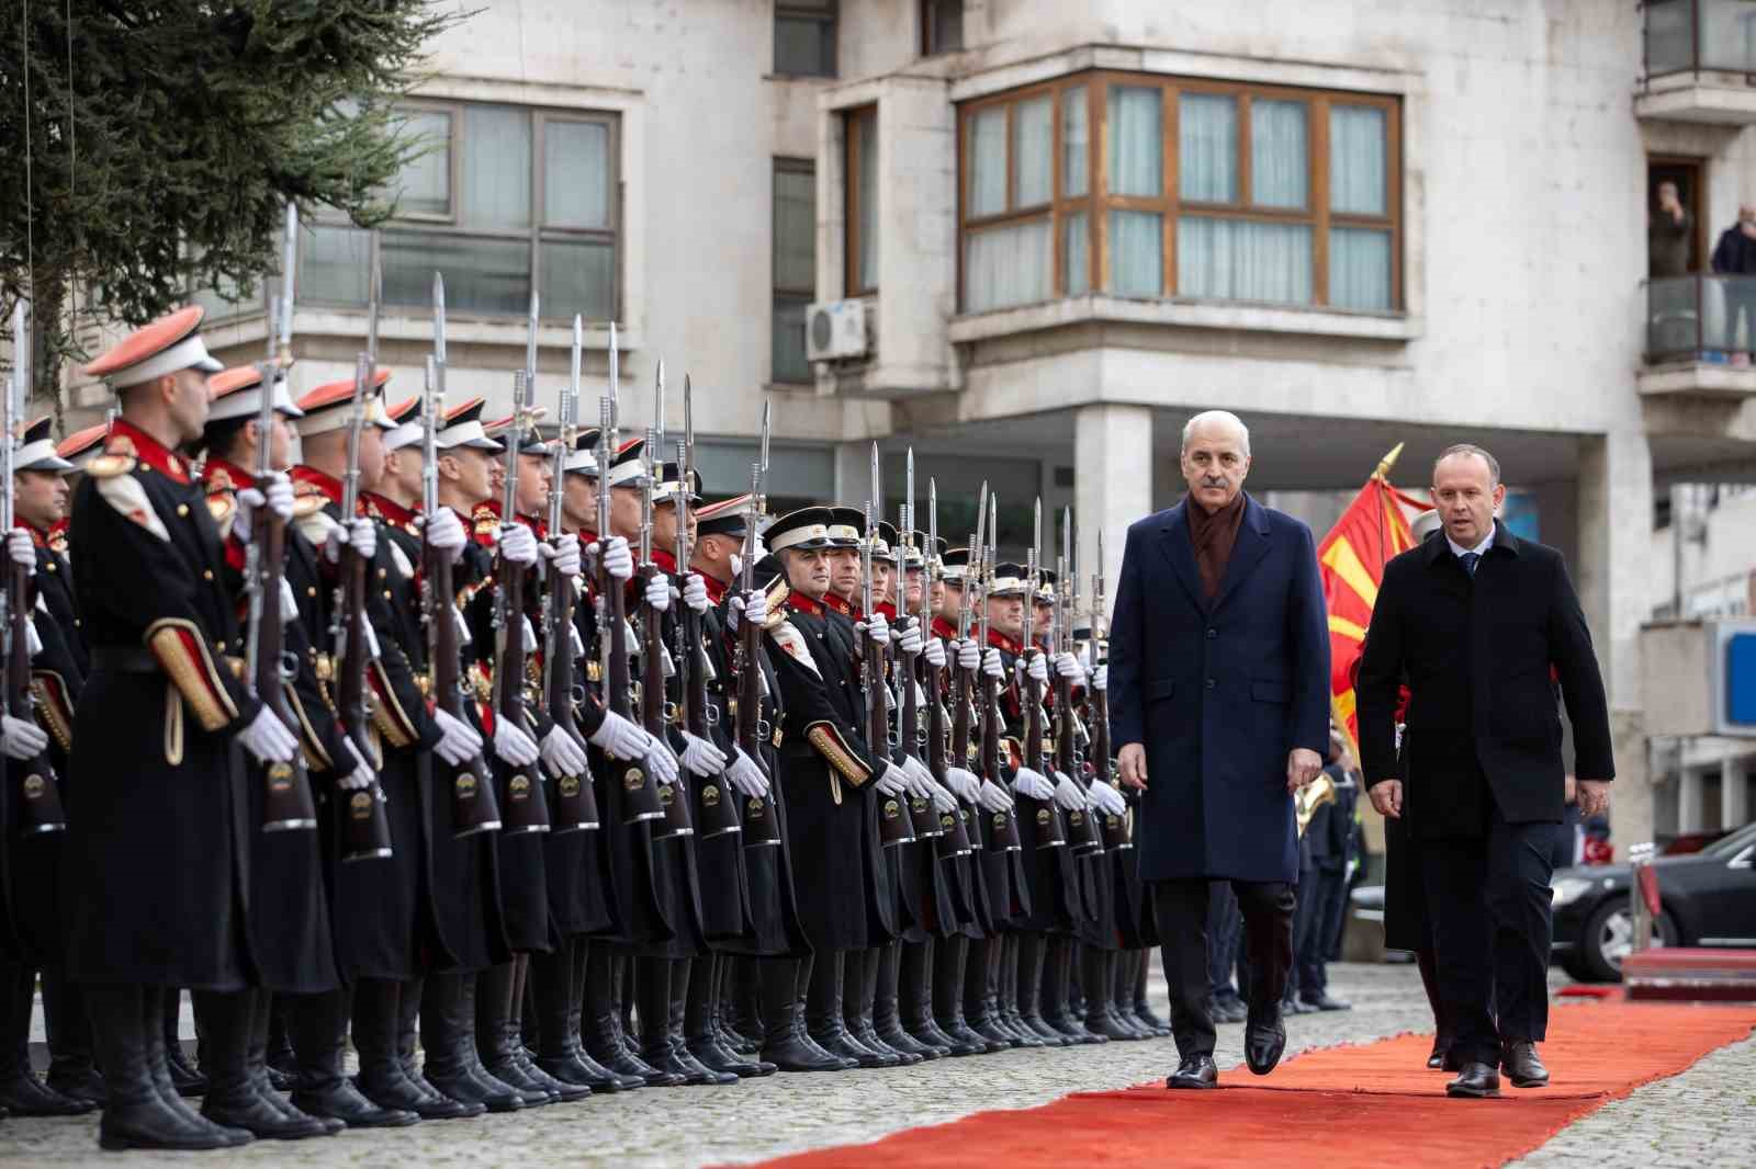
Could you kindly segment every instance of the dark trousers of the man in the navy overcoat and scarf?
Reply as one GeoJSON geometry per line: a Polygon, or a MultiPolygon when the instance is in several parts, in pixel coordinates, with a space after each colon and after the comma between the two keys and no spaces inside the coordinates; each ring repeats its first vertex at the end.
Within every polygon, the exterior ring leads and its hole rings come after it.
{"type": "MultiPolygon", "coordinates": [[[[1152,911],[1164,943],[1164,978],[1171,988],[1171,1034],[1184,1058],[1213,1055],[1213,1018],[1208,1015],[1206,878],[1154,881],[1152,911]]],[[[1243,913],[1250,950],[1250,1015],[1271,1015],[1285,993],[1292,967],[1292,886],[1284,881],[1231,881],[1243,913]]]]}

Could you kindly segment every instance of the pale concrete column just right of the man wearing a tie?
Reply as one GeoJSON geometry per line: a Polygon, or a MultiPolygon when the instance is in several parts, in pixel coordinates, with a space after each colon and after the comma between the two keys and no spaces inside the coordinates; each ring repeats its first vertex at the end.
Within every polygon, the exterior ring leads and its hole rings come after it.
{"type": "Polygon", "coordinates": [[[1616,748],[1610,818],[1619,857],[1626,857],[1630,844],[1652,839],[1640,697],[1640,625],[1652,606],[1651,555],[1652,451],[1645,432],[1628,428],[1580,439],[1579,556],[1570,567],[1608,690],[1616,748]]]}

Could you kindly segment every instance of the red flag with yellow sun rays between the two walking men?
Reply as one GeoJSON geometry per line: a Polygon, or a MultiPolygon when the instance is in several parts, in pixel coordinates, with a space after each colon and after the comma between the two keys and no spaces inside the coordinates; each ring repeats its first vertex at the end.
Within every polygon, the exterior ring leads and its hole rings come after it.
{"type": "Polygon", "coordinates": [[[1415,544],[1405,506],[1421,502],[1391,486],[1389,474],[1403,448],[1384,456],[1359,488],[1329,535],[1317,544],[1317,572],[1329,607],[1329,709],[1359,758],[1359,714],[1354,709],[1354,671],[1366,642],[1371,607],[1391,556],[1415,544]]]}

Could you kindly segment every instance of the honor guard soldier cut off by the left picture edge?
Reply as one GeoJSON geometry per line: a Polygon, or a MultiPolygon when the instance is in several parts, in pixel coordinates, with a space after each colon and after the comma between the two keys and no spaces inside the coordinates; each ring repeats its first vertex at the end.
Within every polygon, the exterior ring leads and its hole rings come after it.
{"type": "MultiPolygon", "coordinates": [[[[67,911],[63,886],[65,821],[42,821],[26,811],[25,785],[42,783],[37,760],[46,757],[56,776],[67,776],[74,709],[86,674],[86,649],[74,606],[67,560],[49,534],[67,518],[67,472],[49,437],[51,420],[25,428],[12,455],[12,514],[7,534],[14,574],[25,592],[30,641],[30,716],[5,714],[0,748],[5,783],[0,786],[0,881],[9,893],[0,904],[0,1109],[16,1116],[74,1116],[104,1101],[104,1081],[91,1060],[91,1025],[77,983],[67,978],[67,911]],[[7,929],[11,927],[11,929],[7,929]],[[30,1018],[42,979],[44,1029],[49,1039],[47,1083],[30,1067],[30,1018]]],[[[65,800],[65,786],[63,800],[65,800]]]]}

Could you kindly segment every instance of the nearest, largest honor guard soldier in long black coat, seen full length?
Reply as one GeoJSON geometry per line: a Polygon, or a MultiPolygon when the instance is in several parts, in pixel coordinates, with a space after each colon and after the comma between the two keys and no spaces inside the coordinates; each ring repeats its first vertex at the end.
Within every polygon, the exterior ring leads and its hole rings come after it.
{"type": "MultiPolygon", "coordinates": [[[[91,674],[67,783],[67,846],[81,858],[68,869],[68,974],[86,985],[97,1034],[105,1148],[251,1139],[172,1090],[163,990],[239,995],[249,986],[253,955],[237,909],[248,897],[239,837],[251,828],[234,746],[258,764],[291,764],[299,751],[225,656],[237,641],[230,565],[205,493],[177,453],[202,435],[207,377],[220,370],[200,321],[200,307],[181,309],[86,367],[121,400],[104,455],[74,495],[72,523],[91,674]]],[[[225,1016],[225,1029],[246,1027],[242,1011],[225,1016]]],[[[207,1041],[220,1051],[246,1043],[237,1034],[207,1041]]],[[[241,1111],[274,1108],[260,1074],[230,1095],[241,1111]]]]}

